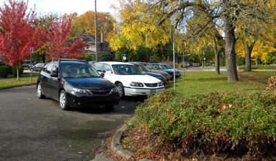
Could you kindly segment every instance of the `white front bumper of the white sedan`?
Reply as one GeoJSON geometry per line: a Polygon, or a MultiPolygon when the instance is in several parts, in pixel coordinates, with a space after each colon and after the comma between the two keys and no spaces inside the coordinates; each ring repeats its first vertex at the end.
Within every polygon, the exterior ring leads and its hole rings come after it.
{"type": "Polygon", "coordinates": [[[164,89],[165,87],[160,87],[155,89],[124,87],[126,96],[147,96],[150,94],[155,94],[157,92],[162,92],[164,91],[164,89]]]}

